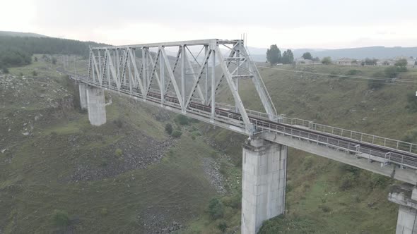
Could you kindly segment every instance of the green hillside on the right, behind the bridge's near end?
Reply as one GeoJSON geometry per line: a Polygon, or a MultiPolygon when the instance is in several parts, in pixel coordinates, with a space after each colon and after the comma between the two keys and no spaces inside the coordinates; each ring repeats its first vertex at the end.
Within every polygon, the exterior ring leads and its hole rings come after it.
{"type": "MultiPolygon", "coordinates": [[[[383,71],[376,67],[343,66],[280,68],[340,75],[357,69],[358,75],[363,76],[383,71]]],[[[416,79],[416,71],[402,77],[416,79]]],[[[278,113],[396,139],[417,128],[417,113],[405,109],[406,94],[416,92],[416,85],[385,85],[380,90],[369,90],[367,80],[317,78],[269,68],[260,68],[260,73],[278,113]]],[[[254,99],[252,85],[241,82],[240,94],[248,109],[262,110],[260,102],[254,99]]],[[[231,103],[224,93],[223,100],[231,103]]],[[[243,137],[226,130],[209,131],[209,135],[233,155],[239,166],[238,142],[243,137]]],[[[393,233],[398,207],[387,201],[392,183],[388,178],[290,149],[287,215],[267,222],[261,233],[393,233]],[[351,185],[342,189],[348,176],[351,185]]]]}

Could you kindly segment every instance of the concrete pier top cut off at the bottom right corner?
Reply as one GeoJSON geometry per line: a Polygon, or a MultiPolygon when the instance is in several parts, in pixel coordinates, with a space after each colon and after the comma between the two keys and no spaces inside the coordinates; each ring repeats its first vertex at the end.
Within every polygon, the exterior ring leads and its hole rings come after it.
{"type": "Polygon", "coordinates": [[[417,234],[417,188],[404,184],[392,187],[388,200],[399,204],[396,234],[417,234]]]}

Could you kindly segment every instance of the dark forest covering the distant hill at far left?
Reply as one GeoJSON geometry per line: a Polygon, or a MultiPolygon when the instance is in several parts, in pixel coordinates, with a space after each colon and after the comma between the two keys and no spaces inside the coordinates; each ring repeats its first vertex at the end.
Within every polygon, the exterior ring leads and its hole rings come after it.
{"type": "Polygon", "coordinates": [[[76,54],[88,56],[88,47],[104,44],[52,37],[0,36],[0,69],[24,66],[32,62],[33,54],[76,54]]]}

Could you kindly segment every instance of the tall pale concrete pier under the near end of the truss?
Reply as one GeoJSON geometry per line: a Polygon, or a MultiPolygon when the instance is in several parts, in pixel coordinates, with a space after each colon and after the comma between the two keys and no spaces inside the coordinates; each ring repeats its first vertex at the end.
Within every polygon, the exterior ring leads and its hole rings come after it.
{"type": "Polygon", "coordinates": [[[263,139],[247,140],[242,159],[242,234],[285,211],[287,147],[263,139]]]}

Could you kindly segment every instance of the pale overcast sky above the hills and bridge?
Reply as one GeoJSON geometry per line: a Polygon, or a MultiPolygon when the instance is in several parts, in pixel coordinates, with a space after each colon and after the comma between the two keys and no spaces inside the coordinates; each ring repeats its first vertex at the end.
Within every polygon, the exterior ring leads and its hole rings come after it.
{"type": "Polygon", "coordinates": [[[0,30],[114,45],[240,39],[250,47],[417,47],[417,0],[2,0],[0,30]]]}

